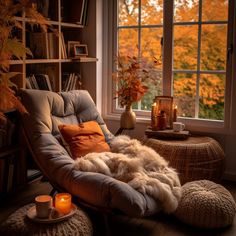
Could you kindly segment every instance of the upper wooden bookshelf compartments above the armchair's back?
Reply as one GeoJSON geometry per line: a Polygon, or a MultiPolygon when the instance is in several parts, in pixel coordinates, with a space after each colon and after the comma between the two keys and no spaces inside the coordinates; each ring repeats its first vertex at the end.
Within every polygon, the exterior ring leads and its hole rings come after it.
{"type": "MultiPolygon", "coordinates": [[[[90,5],[93,4],[89,5],[88,0],[50,0],[45,13],[41,4],[45,1],[34,2],[40,6],[41,9],[38,10],[48,19],[51,26],[47,32],[42,32],[37,26],[32,26],[32,19],[26,18],[24,15],[16,17],[16,20],[23,26],[22,31],[17,32],[16,35],[25,46],[31,49],[34,56],[25,56],[23,60],[10,61],[10,70],[21,73],[12,81],[19,88],[31,88],[27,86],[28,77],[45,74],[49,76],[52,90],[60,92],[63,90],[63,75],[76,73],[80,75],[81,81],[78,81],[73,89],[90,90],[89,86],[86,86],[87,80],[91,79],[89,73],[86,73],[90,66],[85,66],[85,64],[96,64],[98,60],[96,52],[88,45],[88,55],[75,57],[68,50],[68,42],[73,41],[86,46],[89,44],[86,41],[88,38],[86,28],[91,28],[89,18],[93,17],[93,6],[90,7],[90,5]]],[[[91,66],[94,68],[94,65],[91,66]]]]}

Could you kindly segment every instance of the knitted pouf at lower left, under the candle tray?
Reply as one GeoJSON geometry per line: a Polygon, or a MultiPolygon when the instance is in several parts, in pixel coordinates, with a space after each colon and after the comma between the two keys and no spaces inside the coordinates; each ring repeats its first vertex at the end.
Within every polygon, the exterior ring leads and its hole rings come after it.
{"type": "Polygon", "coordinates": [[[58,223],[36,223],[26,216],[33,204],[26,205],[13,214],[0,227],[4,236],[92,236],[92,223],[86,213],[78,208],[73,216],[58,223]]]}

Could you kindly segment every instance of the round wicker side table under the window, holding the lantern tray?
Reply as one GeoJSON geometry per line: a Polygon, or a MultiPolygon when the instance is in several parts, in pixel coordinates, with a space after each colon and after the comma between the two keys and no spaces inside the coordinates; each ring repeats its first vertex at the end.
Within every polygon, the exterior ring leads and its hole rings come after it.
{"type": "Polygon", "coordinates": [[[181,184],[208,179],[218,182],[224,171],[225,154],[220,144],[210,137],[189,137],[186,140],[147,138],[144,144],[152,147],[175,168],[181,184]]]}

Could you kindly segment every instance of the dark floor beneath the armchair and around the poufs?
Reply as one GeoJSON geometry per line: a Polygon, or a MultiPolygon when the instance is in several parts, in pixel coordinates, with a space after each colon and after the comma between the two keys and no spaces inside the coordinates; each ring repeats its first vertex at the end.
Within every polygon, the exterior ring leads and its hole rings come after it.
{"type": "MultiPolygon", "coordinates": [[[[236,182],[224,182],[236,200],[236,182]]],[[[0,223],[19,207],[34,201],[39,194],[49,194],[47,182],[35,181],[26,188],[0,201],[0,223]]],[[[156,215],[150,218],[129,218],[108,215],[86,209],[94,225],[94,236],[236,236],[236,218],[231,227],[220,230],[200,230],[179,222],[174,216],[156,215]],[[109,225],[109,230],[105,225],[109,225]]]]}

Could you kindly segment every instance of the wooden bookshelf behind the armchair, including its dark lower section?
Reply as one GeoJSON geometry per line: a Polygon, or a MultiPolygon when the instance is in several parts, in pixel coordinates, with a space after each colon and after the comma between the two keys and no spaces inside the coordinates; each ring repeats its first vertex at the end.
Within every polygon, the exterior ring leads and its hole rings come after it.
{"type": "MultiPolygon", "coordinates": [[[[34,0],[36,4],[45,1],[34,0]]],[[[64,90],[63,78],[65,74],[74,75],[80,79],[77,86],[68,86],[70,89],[87,89],[94,100],[96,100],[96,3],[91,0],[50,0],[49,8],[45,17],[51,27],[46,33],[42,33],[39,28],[31,26],[32,19],[23,15],[16,16],[16,21],[22,23],[22,30],[14,32],[15,37],[31,49],[34,56],[25,56],[23,60],[10,61],[10,71],[20,72],[12,78],[18,88],[26,88],[27,80],[31,75],[46,74],[49,76],[52,90],[60,92],[64,90]],[[90,3],[90,4],[89,4],[90,3]],[[83,9],[83,10],[82,10],[83,9]],[[83,12],[83,14],[78,14],[83,12]],[[87,45],[88,55],[74,57],[68,53],[68,42],[76,42],[87,45]],[[42,49],[42,54],[38,54],[38,47],[42,49]],[[43,51],[46,48],[45,51],[43,51]],[[79,75],[79,76],[78,76],[79,75]],[[82,86],[81,86],[82,83],[82,86]]],[[[43,11],[45,14],[45,11],[43,11]]],[[[20,131],[19,131],[20,132],[20,131]]],[[[38,176],[35,170],[29,170],[26,156],[27,150],[23,147],[19,138],[17,142],[10,145],[0,146],[0,169],[1,163],[9,165],[13,163],[14,169],[6,168],[3,191],[1,193],[14,192],[18,186],[26,184],[32,176],[38,176]],[[10,170],[10,174],[9,173],[10,170]],[[12,175],[11,172],[14,174],[12,175]],[[12,186],[9,183],[6,189],[6,182],[12,179],[17,183],[12,186]],[[28,179],[27,179],[28,176],[28,179]],[[9,191],[8,191],[9,190],[9,191]]],[[[1,176],[0,176],[1,180],[1,176]]]]}

